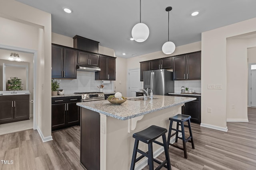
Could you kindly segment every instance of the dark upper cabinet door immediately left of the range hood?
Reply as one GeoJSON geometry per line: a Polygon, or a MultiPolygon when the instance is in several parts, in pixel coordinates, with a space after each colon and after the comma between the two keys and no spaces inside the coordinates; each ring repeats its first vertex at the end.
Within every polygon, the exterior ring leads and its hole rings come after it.
{"type": "Polygon", "coordinates": [[[64,78],[76,78],[77,51],[64,48],[64,78]]]}

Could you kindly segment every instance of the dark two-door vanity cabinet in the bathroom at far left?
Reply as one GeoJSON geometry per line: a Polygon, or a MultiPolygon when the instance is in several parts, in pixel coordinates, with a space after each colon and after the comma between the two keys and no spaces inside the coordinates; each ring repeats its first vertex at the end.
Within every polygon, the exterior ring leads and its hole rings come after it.
{"type": "Polygon", "coordinates": [[[29,95],[0,96],[0,124],[29,119],[29,95]]]}

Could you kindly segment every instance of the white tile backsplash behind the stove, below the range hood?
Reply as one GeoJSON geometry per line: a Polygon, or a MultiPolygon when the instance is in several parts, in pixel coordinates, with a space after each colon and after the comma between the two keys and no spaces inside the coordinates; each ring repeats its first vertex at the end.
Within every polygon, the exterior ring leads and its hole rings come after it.
{"type": "MultiPolygon", "coordinates": [[[[60,89],[64,90],[64,94],[72,94],[74,92],[99,92],[97,86],[102,84],[102,80],[94,80],[94,72],[77,71],[76,79],[56,79],[60,83],[60,89]]],[[[103,84],[103,92],[114,92],[114,83],[103,84]]]]}

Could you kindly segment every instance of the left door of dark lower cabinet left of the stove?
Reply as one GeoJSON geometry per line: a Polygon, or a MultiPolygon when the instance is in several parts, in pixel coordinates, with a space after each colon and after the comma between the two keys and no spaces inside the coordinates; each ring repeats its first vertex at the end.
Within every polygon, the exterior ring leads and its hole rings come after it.
{"type": "Polygon", "coordinates": [[[66,125],[66,104],[52,105],[52,131],[66,125]]]}

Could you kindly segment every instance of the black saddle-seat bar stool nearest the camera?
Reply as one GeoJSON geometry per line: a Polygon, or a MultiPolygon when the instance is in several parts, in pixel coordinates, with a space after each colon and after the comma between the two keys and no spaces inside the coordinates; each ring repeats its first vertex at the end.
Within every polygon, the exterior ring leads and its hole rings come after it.
{"type": "Polygon", "coordinates": [[[166,136],[165,136],[166,132],[167,132],[167,129],[152,125],[146,129],[144,129],[140,132],[134,133],[132,135],[132,137],[135,138],[135,144],[134,144],[134,149],[133,149],[133,153],[132,153],[132,164],[131,164],[130,170],[134,170],[135,163],[138,162],[139,160],[141,160],[144,156],[146,156],[148,158],[148,165],[149,165],[150,170],[154,169],[154,162],[159,164],[159,166],[156,168],[158,170],[160,168],[162,168],[163,166],[165,168],[167,168],[168,170],[171,170],[171,163],[170,163],[169,152],[168,152],[168,144],[166,142],[166,136]],[[155,141],[160,136],[162,136],[163,143],[155,141]],[[143,152],[142,150],[138,149],[139,141],[142,141],[142,142],[148,144],[147,152],[143,152]],[[153,158],[153,147],[152,147],[153,142],[164,147],[164,152],[165,152],[165,157],[166,157],[166,160],[164,160],[164,162],[160,162],[153,158]],[[138,158],[136,158],[137,152],[142,154],[138,158]]]}

